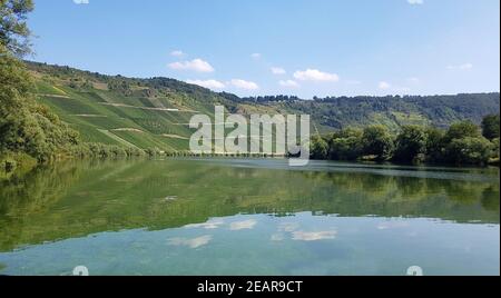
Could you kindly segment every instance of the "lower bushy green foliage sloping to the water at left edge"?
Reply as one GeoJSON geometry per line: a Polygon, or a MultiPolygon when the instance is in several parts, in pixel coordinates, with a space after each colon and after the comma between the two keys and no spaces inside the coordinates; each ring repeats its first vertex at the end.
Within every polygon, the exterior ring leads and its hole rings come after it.
{"type": "Polygon", "coordinates": [[[0,152],[27,152],[48,160],[58,149],[77,145],[77,132],[35,101],[23,64],[6,48],[0,52],[0,152]]]}

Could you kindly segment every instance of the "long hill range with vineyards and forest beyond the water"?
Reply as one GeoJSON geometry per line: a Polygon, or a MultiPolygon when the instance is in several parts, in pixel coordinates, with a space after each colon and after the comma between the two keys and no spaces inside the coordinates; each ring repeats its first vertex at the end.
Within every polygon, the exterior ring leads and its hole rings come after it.
{"type": "Polygon", "coordinates": [[[498,112],[500,93],[432,97],[239,98],[175,79],[105,76],[69,67],[27,62],[39,100],[78,130],[84,141],[138,148],[186,150],[194,113],[308,113],[320,133],[383,123],[392,129],[419,123],[445,128],[498,112]]]}

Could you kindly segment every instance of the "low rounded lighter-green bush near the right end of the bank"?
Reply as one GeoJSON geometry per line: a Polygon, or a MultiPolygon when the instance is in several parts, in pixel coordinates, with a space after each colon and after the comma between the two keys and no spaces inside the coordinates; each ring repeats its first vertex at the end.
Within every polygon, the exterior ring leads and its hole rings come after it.
{"type": "Polygon", "coordinates": [[[492,147],[483,137],[453,139],[445,148],[446,158],[456,165],[485,165],[491,157],[492,147]]]}

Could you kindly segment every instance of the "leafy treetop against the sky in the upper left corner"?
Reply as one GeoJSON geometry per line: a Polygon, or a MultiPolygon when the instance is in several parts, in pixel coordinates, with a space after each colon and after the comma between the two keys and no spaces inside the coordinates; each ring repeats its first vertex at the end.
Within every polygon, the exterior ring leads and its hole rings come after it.
{"type": "Polygon", "coordinates": [[[27,16],[32,10],[32,0],[0,0],[0,43],[16,56],[30,51],[27,16]]]}

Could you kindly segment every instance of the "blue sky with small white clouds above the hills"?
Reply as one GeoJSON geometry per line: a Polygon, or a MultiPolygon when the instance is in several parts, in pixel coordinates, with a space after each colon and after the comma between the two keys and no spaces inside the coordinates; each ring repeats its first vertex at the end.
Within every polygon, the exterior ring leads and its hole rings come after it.
{"type": "Polygon", "coordinates": [[[239,96],[500,91],[499,0],[36,0],[32,60],[239,96]]]}

